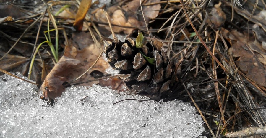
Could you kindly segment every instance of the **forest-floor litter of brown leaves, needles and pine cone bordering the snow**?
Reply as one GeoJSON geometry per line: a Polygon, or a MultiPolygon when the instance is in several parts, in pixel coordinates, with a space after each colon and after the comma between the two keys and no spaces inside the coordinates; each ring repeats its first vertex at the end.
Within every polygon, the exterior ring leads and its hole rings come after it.
{"type": "Polygon", "coordinates": [[[74,84],[121,92],[125,82],[153,100],[191,102],[206,137],[266,126],[264,1],[101,2],[1,3],[1,69],[31,75],[49,100],[74,84]]]}

